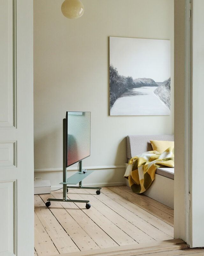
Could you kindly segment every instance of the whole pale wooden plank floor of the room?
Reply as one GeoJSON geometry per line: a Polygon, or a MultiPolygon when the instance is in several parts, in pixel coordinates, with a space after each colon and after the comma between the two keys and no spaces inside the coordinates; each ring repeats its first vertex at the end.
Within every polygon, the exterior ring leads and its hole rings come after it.
{"type": "MultiPolygon", "coordinates": [[[[62,191],[35,195],[36,256],[82,252],[91,255],[89,251],[94,253],[101,248],[105,250],[103,255],[109,255],[105,248],[110,253],[116,247],[173,239],[173,209],[145,195],[136,195],[127,186],[102,188],[100,195],[95,190],[69,189],[70,199],[90,200],[89,210],[83,203],[68,202],[51,202],[47,208],[48,196],[62,198],[62,191]]],[[[198,255],[202,253],[199,251],[198,255]]],[[[158,254],[161,255],[181,254],[158,254]]]]}

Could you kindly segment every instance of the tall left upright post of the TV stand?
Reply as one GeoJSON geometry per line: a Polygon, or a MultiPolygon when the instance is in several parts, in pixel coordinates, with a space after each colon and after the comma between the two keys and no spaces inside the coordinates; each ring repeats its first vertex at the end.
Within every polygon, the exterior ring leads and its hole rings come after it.
{"type": "MultiPolygon", "coordinates": [[[[63,182],[67,182],[66,119],[63,119],[63,182]]],[[[67,200],[67,184],[63,184],[63,200],[67,200]]]]}

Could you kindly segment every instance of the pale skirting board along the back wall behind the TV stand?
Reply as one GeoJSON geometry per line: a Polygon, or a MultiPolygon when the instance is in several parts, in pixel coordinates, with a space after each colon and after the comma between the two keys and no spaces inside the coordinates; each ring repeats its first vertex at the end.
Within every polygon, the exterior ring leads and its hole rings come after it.
{"type": "MultiPolygon", "coordinates": [[[[83,167],[83,169],[95,169],[96,171],[91,173],[87,178],[83,180],[83,185],[93,187],[108,187],[108,186],[122,186],[126,185],[126,179],[123,177],[125,173],[125,166],[93,166],[83,167]],[[104,169],[103,169],[104,168],[104,169]]],[[[77,170],[70,170],[67,172],[67,176],[71,176],[76,173],[77,170]]],[[[42,177],[43,180],[50,180],[51,190],[61,188],[62,185],[62,171],[60,168],[50,169],[38,169],[34,172],[34,177],[42,177]]]]}

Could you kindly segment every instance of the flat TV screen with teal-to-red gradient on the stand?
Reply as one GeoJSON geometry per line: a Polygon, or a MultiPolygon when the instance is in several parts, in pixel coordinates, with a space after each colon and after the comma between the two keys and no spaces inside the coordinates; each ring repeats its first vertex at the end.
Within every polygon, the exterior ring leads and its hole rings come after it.
{"type": "Polygon", "coordinates": [[[67,167],[90,156],[91,112],[67,112],[67,167]]]}

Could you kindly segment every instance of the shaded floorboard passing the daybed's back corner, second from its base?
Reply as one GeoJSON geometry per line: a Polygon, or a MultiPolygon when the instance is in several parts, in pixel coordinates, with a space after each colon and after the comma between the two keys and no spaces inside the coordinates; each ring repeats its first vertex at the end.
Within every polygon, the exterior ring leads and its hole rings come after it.
{"type": "Polygon", "coordinates": [[[157,218],[163,220],[167,224],[173,226],[173,217],[171,215],[169,215],[166,212],[163,212],[163,211],[155,208],[154,206],[144,202],[143,200],[141,200],[138,197],[136,198],[135,197],[136,194],[132,195],[131,193],[129,193],[129,192],[127,192],[124,189],[121,189],[119,187],[109,187],[109,189],[111,189],[112,191],[116,192],[119,195],[122,195],[124,198],[126,198],[130,202],[138,205],[143,210],[151,213],[152,215],[154,215],[157,218]]]}

